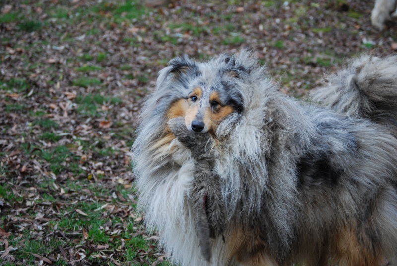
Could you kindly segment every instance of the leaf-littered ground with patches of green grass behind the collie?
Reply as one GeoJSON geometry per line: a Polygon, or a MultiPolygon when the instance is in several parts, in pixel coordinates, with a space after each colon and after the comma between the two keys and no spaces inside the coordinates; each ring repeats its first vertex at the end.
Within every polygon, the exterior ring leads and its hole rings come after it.
{"type": "Polygon", "coordinates": [[[173,57],[252,47],[302,96],[345,58],[397,50],[396,23],[370,24],[373,0],[27,2],[0,7],[0,257],[13,265],[163,265],[130,149],[173,57]]]}

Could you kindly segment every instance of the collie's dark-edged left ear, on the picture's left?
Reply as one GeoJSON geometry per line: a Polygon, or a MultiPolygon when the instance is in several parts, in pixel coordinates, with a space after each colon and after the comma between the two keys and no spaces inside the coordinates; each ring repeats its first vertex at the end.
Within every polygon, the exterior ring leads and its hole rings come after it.
{"type": "Polygon", "coordinates": [[[168,66],[158,73],[157,88],[160,88],[163,82],[169,76],[178,78],[182,74],[187,73],[189,69],[193,69],[194,67],[195,63],[187,55],[172,59],[168,63],[168,66]]]}

